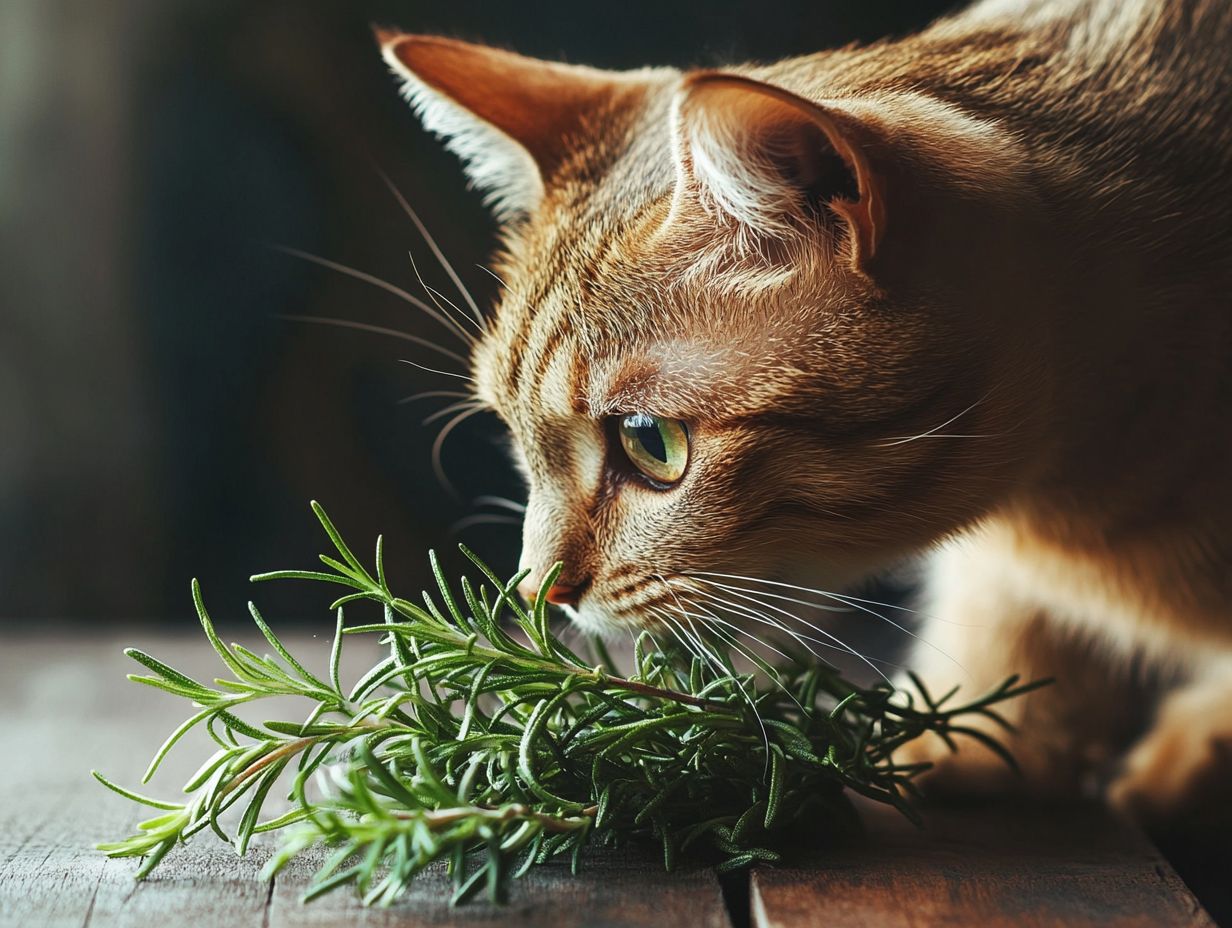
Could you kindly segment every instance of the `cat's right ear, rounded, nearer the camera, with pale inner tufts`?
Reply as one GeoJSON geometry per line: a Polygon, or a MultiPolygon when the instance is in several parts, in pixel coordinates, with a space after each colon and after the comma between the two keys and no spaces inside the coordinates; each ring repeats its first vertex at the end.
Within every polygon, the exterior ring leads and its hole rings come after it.
{"type": "Polygon", "coordinates": [[[850,230],[864,267],[886,226],[876,133],[840,105],[818,105],[732,74],[685,79],[674,108],[680,186],[749,229],[786,238],[818,214],[850,230]]]}

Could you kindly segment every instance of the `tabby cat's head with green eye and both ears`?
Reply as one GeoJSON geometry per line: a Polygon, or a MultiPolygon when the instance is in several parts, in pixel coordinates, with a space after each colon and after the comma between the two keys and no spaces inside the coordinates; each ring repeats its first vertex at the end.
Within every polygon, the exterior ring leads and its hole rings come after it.
{"type": "Polygon", "coordinates": [[[477,392],[529,483],[522,566],[563,561],[585,626],[739,615],[742,577],[850,580],[1020,478],[1044,383],[1002,348],[1021,314],[987,260],[1021,190],[992,128],[807,67],[379,38],[504,221],[477,392]]]}

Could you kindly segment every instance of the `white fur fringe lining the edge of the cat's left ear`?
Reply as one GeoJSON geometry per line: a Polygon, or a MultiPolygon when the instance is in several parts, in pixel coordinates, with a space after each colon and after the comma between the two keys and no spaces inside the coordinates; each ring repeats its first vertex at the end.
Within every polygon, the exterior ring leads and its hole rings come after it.
{"type": "Polygon", "coordinates": [[[498,219],[513,219],[538,206],[543,179],[525,147],[420,80],[398,59],[392,43],[384,46],[382,57],[402,80],[402,94],[424,128],[461,159],[471,185],[498,219]]]}

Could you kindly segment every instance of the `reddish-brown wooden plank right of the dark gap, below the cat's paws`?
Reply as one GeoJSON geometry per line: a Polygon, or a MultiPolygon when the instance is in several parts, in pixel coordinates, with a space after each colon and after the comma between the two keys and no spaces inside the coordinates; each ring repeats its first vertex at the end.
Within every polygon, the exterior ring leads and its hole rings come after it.
{"type": "Polygon", "coordinates": [[[755,926],[1215,924],[1151,843],[1095,805],[934,807],[923,831],[860,810],[866,834],[754,873],[755,926]]]}

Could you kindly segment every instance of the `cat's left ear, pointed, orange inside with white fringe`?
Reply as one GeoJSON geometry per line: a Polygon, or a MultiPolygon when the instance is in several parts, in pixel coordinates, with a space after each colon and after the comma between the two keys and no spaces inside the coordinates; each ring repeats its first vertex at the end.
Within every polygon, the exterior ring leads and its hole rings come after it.
{"type": "Polygon", "coordinates": [[[447,140],[500,218],[532,211],[563,139],[612,94],[616,75],[437,36],[376,30],[425,128],[447,140]]]}

